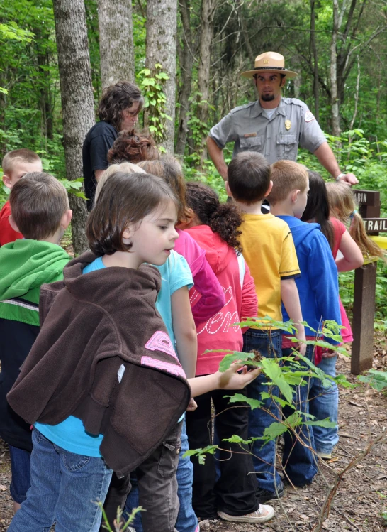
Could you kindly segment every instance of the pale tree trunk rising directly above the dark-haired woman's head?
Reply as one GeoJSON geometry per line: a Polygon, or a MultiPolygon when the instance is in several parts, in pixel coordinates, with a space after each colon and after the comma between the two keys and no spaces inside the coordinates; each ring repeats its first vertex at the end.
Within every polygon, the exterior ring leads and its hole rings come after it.
{"type": "Polygon", "coordinates": [[[120,80],[135,81],[132,2],[98,0],[102,88],[120,80]]]}

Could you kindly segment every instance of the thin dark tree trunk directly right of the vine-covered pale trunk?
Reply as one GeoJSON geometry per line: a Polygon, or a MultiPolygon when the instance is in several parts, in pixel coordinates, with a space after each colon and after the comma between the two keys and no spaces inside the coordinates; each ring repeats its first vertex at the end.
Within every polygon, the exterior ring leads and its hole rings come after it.
{"type": "Polygon", "coordinates": [[[177,140],[175,152],[184,155],[188,131],[189,97],[191,96],[192,67],[194,65],[193,43],[191,35],[191,5],[189,0],[180,0],[179,9],[181,23],[183,26],[183,50],[181,53],[181,93],[179,128],[177,130],[177,140]]]}

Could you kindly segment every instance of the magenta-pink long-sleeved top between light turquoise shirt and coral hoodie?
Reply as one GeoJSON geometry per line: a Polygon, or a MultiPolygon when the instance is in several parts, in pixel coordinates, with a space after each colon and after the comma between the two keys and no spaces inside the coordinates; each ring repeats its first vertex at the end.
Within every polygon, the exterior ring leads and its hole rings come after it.
{"type": "Polygon", "coordinates": [[[186,232],[177,229],[179,238],[174,243],[174,251],[184,256],[188,262],[196,293],[200,299],[191,301],[192,315],[196,327],[209,320],[225,305],[225,295],[211,266],[206,260],[206,251],[196,244],[196,241],[186,232]]]}

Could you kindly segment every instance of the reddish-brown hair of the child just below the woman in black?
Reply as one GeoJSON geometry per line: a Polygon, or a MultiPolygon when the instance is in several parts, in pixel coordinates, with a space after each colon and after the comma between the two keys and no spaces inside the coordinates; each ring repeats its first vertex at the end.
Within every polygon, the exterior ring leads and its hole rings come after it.
{"type": "Polygon", "coordinates": [[[159,150],[150,135],[136,133],[134,129],[121,131],[108,151],[108,163],[133,163],[153,161],[159,158],[159,150]]]}

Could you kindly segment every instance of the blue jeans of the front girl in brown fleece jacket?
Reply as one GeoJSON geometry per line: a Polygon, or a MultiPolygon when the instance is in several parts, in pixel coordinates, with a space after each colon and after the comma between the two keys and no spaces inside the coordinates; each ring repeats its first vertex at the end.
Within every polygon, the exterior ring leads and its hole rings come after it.
{"type": "Polygon", "coordinates": [[[97,532],[112,470],[102,458],[76,455],[33,430],[31,486],[9,532],[97,532]]]}

